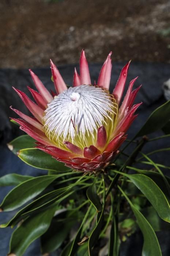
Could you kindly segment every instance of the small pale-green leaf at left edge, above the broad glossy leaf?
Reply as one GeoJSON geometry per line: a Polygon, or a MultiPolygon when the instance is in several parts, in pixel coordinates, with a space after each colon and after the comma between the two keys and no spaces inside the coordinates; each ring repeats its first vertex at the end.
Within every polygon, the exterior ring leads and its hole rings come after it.
{"type": "Polygon", "coordinates": [[[33,178],[33,176],[24,176],[15,173],[6,174],[0,177],[0,187],[19,185],[23,181],[29,180],[31,178],[33,178]]]}

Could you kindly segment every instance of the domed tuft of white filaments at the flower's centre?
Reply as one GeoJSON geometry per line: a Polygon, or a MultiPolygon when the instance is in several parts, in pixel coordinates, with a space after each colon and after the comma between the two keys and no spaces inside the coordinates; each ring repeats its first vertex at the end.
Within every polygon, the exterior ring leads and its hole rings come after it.
{"type": "Polygon", "coordinates": [[[97,131],[105,117],[113,112],[110,95],[99,87],[69,87],[56,96],[45,110],[46,135],[53,139],[74,138],[76,134],[97,131]]]}

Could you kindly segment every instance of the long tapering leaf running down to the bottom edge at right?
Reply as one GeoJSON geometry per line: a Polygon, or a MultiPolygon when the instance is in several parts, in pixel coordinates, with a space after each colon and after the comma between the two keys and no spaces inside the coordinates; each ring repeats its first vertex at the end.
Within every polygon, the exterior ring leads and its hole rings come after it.
{"type": "Polygon", "coordinates": [[[147,221],[147,219],[141,214],[140,211],[138,211],[129,198],[126,196],[126,194],[122,191],[122,189],[118,186],[120,191],[122,192],[122,195],[126,198],[128,203],[130,204],[132,211],[136,217],[137,224],[139,225],[144,238],[144,244],[142,249],[142,256],[162,256],[162,253],[160,251],[160,246],[158,242],[158,238],[156,237],[156,234],[154,230],[152,229],[150,223],[147,221]]]}

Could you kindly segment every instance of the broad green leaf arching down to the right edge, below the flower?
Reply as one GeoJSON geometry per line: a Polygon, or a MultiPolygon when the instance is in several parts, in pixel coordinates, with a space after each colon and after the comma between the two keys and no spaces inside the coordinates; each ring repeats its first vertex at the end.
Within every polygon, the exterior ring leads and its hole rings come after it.
{"type": "MultiPolygon", "coordinates": [[[[170,222],[170,204],[156,183],[146,175],[143,174],[125,174],[136,187],[147,197],[152,206],[158,212],[160,218],[164,221],[170,222]]],[[[166,186],[165,186],[166,187],[166,186]]]]}

